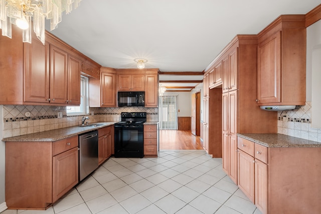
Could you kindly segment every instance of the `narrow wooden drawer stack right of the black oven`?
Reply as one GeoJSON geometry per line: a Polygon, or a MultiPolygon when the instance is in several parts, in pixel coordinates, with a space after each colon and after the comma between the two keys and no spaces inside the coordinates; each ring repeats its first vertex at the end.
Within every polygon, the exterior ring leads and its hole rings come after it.
{"type": "Polygon", "coordinates": [[[157,156],[158,126],[144,125],[144,156],[157,156]]]}

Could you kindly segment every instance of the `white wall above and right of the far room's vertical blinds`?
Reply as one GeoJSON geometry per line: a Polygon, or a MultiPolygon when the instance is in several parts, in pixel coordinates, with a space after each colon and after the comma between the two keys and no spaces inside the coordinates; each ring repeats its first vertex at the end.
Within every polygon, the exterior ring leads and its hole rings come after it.
{"type": "Polygon", "coordinates": [[[190,92],[168,92],[166,91],[164,95],[176,95],[178,94],[178,112],[179,117],[190,117],[192,115],[192,95],[190,92]]]}

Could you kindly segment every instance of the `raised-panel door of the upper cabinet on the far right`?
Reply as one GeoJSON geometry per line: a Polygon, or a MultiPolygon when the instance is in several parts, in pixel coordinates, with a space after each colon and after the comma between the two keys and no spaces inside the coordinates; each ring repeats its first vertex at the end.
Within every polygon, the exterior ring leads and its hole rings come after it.
{"type": "Polygon", "coordinates": [[[281,32],[258,45],[257,99],[258,103],[281,102],[281,32]]]}

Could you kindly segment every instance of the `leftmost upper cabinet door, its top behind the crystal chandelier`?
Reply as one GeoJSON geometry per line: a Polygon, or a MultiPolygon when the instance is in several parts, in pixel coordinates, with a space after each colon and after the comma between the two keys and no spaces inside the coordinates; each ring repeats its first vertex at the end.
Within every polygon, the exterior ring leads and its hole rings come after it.
{"type": "Polygon", "coordinates": [[[49,103],[49,43],[24,43],[24,102],[49,103]]]}

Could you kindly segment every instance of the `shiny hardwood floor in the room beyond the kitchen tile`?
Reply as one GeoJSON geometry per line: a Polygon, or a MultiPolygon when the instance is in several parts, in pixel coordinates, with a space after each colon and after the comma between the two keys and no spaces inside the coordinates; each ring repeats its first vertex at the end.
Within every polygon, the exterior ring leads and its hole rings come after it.
{"type": "Polygon", "coordinates": [[[203,149],[201,138],[191,131],[159,130],[159,149],[203,149]]]}

